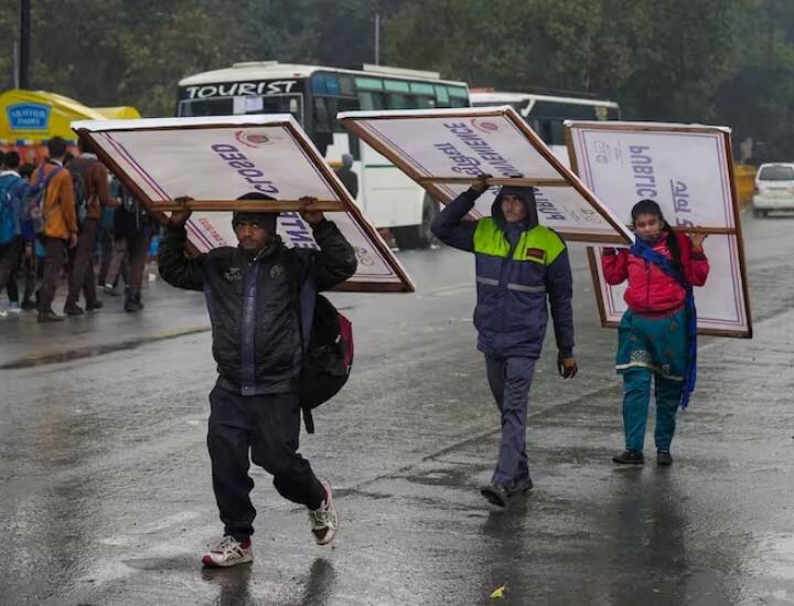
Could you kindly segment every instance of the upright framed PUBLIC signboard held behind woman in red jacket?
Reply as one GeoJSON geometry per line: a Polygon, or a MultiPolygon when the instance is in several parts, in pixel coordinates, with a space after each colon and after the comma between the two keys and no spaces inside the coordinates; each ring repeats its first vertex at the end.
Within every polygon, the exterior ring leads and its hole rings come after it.
{"type": "MultiPolygon", "coordinates": [[[[571,167],[624,221],[643,199],[655,200],[675,230],[709,234],[711,266],[695,288],[698,331],[752,337],[730,129],[653,123],[566,123],[571,167]]],[[[625,310],[625,285],[603,279],[600,254],[589,249],[599,313],[615,327],[625,310]]]]}

